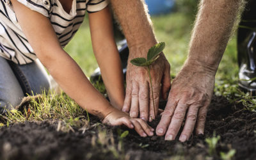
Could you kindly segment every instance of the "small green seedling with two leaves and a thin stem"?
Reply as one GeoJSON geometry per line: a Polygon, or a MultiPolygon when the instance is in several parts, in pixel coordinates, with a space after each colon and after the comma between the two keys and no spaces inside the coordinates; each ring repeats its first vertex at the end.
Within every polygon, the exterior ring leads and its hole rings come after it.
{"type": "Polygon", "coordinates": [[[147,59],[146,58],[134,58],[131,60],[132,65],[136,65],[138,67],[147,67],[148,68],[148,76],[150,80],[150,87],[151,87],[151,93],[152,93],[152,100],[153,100],[153,106],[154,106],[154,115],[156,116],[155,111],[155,102],[154,102],[154,94],[153,94],[153,86],[152,86],[152,79],[150,75],[150,65],[154,63],[154,61],[159,58],[160,53],[163,51],[165,47],[164,42],[160,42],[159,44],[154,45],[150,49],[148,49],[147,59]]]}

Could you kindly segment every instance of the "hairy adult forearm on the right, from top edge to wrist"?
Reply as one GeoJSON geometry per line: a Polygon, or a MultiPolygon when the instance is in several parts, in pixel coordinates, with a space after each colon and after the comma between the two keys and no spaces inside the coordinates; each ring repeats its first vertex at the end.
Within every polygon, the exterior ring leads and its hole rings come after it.
{"type": "Polygon", "coordinates": [[[188,63],[216,73],[243,0],[202,0],[189,46],[188,63]]]}

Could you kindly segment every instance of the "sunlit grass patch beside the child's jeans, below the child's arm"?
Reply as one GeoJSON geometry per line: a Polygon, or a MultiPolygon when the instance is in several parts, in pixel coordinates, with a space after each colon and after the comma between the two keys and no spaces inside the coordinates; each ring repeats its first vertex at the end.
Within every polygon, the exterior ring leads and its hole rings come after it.
{"type": "Polygon", "coordinates": [[[89,120],[88,114],[80,108],[74,100],[65,93],[58,96],[52,93],[28,96],[20,108],[8,111],[3,116],[6,124],[28,121],[64,120],[68,124],[74,124],[73,118],[89,120]]]}

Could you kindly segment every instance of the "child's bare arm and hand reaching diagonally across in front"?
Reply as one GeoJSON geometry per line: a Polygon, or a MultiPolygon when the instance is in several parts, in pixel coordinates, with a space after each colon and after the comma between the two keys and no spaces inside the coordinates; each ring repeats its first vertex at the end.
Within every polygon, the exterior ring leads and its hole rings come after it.
{"type": "Polygon", "coordinates": [[[124,124],[129,128],[134,128],[140,136],[147,136],[145,133],[152,135],[151,127],[145,122],[130,118],[124,112],[113,108],[108,100],[93,88],[81,68],[61,48],[47,17],[30,10],[16,0],[12,0],[12,4],[20,27],[36,52],[36,56],[61,88],[76,100],[79,106],[104,119],[103,122],[110,125],[124,124]]]}

